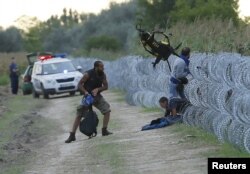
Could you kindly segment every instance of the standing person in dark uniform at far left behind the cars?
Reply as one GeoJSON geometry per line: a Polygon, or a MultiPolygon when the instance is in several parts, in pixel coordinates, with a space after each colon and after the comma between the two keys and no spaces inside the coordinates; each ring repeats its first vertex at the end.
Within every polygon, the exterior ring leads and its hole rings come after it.
{"type": "Polygon", "coordinates": [[[18,93],[18,67],[16,64],[16,60],[14,57],[11,58],[11,64],[9,66],[9,75],[10,75],[10,82],[11,82],[11,92],[14,95],[18,93]]]}

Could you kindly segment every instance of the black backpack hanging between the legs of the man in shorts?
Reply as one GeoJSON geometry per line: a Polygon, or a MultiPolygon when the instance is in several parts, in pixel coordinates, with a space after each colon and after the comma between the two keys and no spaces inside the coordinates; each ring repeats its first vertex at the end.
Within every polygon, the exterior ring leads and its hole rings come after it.
{"type": "Polygon", "coordinates": [[[79,130],[84,135],[89,138],[95,137],[97,135],[97,126],[99,123],[99,119],[95,111],[93,111],[92,106],[89,107],[85,117],[81,120],[79,125],[79,130]]]}

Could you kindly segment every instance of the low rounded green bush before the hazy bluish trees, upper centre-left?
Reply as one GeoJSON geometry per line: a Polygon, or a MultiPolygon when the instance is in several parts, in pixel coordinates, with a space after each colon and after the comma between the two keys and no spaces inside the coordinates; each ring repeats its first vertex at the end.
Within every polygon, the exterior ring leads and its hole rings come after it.
{"type": "Polygon", "coordinates": [[[86,49],[103,49],[108,51],[118,51],[121,48],[121,44],[118,39],[112,36],[102,35],[95,36],[88,39],[86,42],[86,49]]]}

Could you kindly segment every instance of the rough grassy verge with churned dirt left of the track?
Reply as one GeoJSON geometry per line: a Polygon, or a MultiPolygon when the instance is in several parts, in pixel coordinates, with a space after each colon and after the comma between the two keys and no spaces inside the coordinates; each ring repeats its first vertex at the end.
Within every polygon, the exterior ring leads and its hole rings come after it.
{"type": "Polygon", "coordinates": [[[22,173],[36,150],[50,141],[48,135],[53,134],[51,127],[54,123],[38,113],[46,105],[45,100],[34,100],[31,96],[13,96],[8,94],[7,87],[1,87],[1,174],[22,173]]]}

